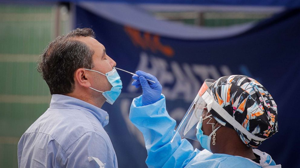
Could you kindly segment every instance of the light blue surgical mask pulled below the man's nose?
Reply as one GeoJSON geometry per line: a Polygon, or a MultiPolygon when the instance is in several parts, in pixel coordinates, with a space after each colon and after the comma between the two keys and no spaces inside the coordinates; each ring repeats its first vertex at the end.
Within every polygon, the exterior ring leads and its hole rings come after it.
{"type": "MultiPolygon", "coordinates": [[[[89,69],[85,69],[85,70],[89,70],[89,69]]],[[[106,91],[106,92],[99,91],[92,87],[90,87],[90,89],[93,89],[97,92],[101,92],[102,95],[106,98],[106,101],[109,104],[113,104],[116,101],[116,99],[119,97],[119,95],[121,93],[121,89],[122,89],[122,81],[121,81],[121,78],[120,78],[117,70],[115,68],[113,68],[112,71],[109,71],[106,74],[103,74],[96,70],[90,70],[90,71],[97,72],[97,73],[100,73],[100,74],[106,76],[109,83],[112,85],[112,89],[110,89],[109,91],[106,91]]]]}

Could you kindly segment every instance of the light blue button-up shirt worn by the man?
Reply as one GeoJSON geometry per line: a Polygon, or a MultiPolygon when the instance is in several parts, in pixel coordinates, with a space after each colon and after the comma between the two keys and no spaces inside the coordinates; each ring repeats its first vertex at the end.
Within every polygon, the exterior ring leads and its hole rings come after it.
{"type": "Polygon", "coordinates": [[[116,153],[103,129],[106,111],[65,95],[52,95],[50,107],[22,135],[19,167],[118,167],[116,153]]]}

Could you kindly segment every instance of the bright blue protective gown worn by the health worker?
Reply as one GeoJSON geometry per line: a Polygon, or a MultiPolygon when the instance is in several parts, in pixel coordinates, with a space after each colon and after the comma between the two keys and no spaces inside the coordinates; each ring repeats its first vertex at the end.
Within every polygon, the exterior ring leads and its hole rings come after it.
{"type": "MultiPolygon", "coordinates": [[[[213,154],[207,150],[194,150],[193,146],[180,135],[171,138],[174,134],[176,121],[172,119],[165,105],[165,96],[154,104],[142,106],[142,96],[135,98],[130,107],[129,119],[143,133],[148,157],[148,167],[261,167],[259,163],[244,157],[228,154],[213,154]]],[[[268,155],[266,167],[275,166],[275,162],[268,155]]]]}

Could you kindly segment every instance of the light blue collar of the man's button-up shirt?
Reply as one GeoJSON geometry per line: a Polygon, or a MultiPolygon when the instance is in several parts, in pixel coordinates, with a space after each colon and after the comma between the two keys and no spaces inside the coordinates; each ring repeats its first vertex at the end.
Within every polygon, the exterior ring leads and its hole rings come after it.
{"type": "Polygon", "coordinates": [[[52,95],[49,108],[86,110],[92,113],[103,127],[109,122],[109,115],[106,111],[90,103],[66,95],[52,95]]]}

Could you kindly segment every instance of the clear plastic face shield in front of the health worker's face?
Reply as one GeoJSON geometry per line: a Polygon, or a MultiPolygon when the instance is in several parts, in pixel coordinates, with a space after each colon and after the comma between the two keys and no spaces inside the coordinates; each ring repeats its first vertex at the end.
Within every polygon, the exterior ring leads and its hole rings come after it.
{"type": "Polygon", "coordinates": [[[215,80],[213,79],[206,79],[204,81],[196,98],[181,120],[179,126],[175,131],[175,134],[171,138],[171,142],[173,142],[176,134],[179,134],[181,138],[189,138],[198,141],[196,137],[196,127],[202,114],[207,113],[207,104],[201,96],[208,89],[208,86],[210,86],[214,81],[215,80]]]}

